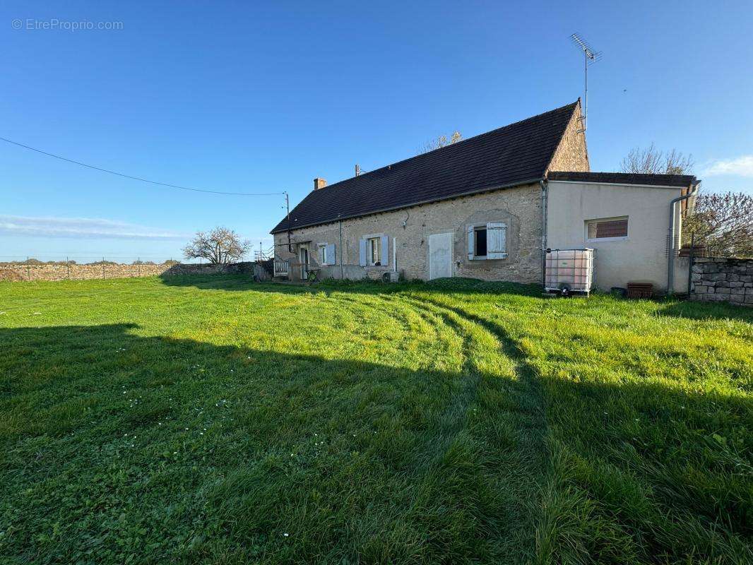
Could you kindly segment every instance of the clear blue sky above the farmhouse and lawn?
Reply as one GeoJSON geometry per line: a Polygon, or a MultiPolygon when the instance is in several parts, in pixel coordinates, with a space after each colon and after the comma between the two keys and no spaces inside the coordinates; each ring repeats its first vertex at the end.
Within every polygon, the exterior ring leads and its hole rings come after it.
{"type": "MultiPolygon", "coordinates": [[[[604,53],[592,170],[654,142],[692,154],[706,190],[753,191],[749,2],[509,4],[4,2],[0,136],[159,182],[288,190],[294,205],[315,176],[573,102],[578,31],[604,53]]],[[[283,213],[282,197],[160,188],[5,142],[0,170],[0,261],[177,257],[218,224],[268,246],[283,213]]]]}

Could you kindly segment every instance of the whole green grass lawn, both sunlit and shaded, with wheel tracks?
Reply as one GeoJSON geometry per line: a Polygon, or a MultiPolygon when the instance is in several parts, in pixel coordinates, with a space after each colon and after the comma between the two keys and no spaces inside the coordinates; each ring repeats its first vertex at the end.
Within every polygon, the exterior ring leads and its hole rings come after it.
{"type": "Polygon", "coordinates": [[[2,563],[751,563],[753,310],[0,283],[2,563]]]}

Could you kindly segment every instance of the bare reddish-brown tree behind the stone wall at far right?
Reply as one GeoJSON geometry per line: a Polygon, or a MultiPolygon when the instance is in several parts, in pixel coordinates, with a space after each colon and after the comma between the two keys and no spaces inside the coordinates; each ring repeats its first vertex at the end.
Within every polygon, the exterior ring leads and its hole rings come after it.
{"type": "Polygon", "coordinates": [[[701,193],[682,230],[710,255],[753,257],[753,196],[742,192],[701,193]]]}

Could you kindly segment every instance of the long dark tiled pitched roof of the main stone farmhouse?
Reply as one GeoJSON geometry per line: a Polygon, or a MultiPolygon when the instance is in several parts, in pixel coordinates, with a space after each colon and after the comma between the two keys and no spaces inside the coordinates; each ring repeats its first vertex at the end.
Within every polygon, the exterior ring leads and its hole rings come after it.
{"type": "MultiPolygon", "coordinates": [[[[311,191],[291,229],[542,179],[578,102],[311,191]]],[[[271,233],[288,229],[283,218],[271,233]]]]}

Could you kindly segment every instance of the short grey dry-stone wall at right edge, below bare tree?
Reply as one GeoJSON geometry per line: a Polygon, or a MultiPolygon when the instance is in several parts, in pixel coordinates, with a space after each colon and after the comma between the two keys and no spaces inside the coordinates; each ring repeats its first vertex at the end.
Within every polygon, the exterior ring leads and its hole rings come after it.
{"type": "Polygon", "coordinates": [[[693,300],[753,306],[753,259],[694,259],[692,281],[693,300]]]}

